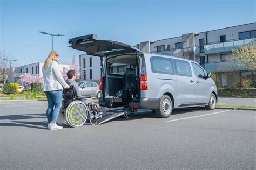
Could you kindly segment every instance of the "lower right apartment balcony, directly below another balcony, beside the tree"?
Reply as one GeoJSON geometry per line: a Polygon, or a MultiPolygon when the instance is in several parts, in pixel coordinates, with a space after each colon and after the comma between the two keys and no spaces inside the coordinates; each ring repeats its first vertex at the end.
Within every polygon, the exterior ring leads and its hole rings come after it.
{"type": "Polygon", "coordinates": [[[248,70],[246,67],[242,67],[239,65],[239,61],[230,60],[226,62],[212,62],[212,63],[205,63],[201,65],[204,67],[206,72],[233,72],[233,71],[242,71],[242,70],[248,70]]]}

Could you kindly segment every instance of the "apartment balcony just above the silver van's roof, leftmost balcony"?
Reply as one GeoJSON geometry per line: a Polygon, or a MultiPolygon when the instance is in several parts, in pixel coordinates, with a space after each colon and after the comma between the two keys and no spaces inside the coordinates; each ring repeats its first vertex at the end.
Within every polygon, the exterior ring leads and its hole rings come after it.
{"type": "Polygon", "coordinates": [[[169,51],[163,51],[163,52],[151,52],[156,54],[162,54],[162,55],[169,55],[169,56],[176,56],[179,58],[183,58],[183,56],[186,56],[186,53],[194,52],[195,55],[199,56],[200,49],[198,46],[195,47],[188,47],[188,48],[180,48],[180,49],[170,49],[169,51]]]}

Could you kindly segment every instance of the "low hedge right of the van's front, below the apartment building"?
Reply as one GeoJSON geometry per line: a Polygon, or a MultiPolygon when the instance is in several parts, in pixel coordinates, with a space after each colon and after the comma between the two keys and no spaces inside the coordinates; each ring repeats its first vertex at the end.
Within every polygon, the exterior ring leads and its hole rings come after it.
{"type": "Polygon", "coordinates": [[[224,88],[218,89],[219,96],[256,98],[256,88],[224,88]]]}

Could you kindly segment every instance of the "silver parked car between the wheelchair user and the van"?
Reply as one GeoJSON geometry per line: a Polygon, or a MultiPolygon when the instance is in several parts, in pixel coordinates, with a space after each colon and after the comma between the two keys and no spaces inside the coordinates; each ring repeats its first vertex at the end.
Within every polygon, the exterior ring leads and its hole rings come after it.
{"type": "Polygon", "coordinates": [[[84,97],[100,97],[99,86],[96,82],[80,81],[78,82],[78,87],[84,97]]]}

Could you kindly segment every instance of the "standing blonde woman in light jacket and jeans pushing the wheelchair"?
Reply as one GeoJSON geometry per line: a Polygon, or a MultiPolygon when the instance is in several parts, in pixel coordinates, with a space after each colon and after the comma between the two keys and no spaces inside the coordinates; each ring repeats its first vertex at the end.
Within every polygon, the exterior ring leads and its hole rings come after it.
{"type": "Polygon", "coordinates": [[[47,128],[50,130],[62,129],[62,126],[56,124],[56,120],[62,107],[62,90],[64,88],[70,88],[63,79],[59,70],[59,54],[52,50],[48,55],[48,58],[44,62],[42,72],[44,75],[43,91],[46,94],[48,108],[46,110],[47,115],[47,128]]]}

